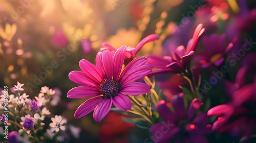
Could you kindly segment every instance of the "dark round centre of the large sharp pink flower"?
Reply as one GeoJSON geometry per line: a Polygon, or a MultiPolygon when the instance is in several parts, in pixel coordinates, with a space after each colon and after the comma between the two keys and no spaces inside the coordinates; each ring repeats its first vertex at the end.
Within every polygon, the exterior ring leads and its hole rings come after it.
{"type": "Polygon", "coordinates": [[[120,90],[119,85],[120,85],[120,82],[114,81],[112,79],[106,79],[104,82],[101,83],[101,87],[100,87],[101,94],[105,98],[114,97],[120,90]]]}

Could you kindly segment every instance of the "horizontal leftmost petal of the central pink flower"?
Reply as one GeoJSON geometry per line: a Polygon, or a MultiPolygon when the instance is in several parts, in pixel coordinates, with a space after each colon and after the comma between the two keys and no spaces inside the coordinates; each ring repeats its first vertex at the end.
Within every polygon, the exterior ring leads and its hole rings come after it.
{"type": "Polygon", "coordinates": [[[99,88],[94,88],[90,86],[79,86],[74,87],[67,93],[68,98],[87,98],[99,96],[100,90],[99,88]]]}

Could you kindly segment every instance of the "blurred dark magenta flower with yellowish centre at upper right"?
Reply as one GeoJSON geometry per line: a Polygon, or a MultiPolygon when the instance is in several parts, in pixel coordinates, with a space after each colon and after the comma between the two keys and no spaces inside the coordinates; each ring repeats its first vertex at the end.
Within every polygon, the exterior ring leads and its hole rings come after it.
{"type": "Polygon", "coordinates": [[[224,62],[227,52],[233,46],[233,43],[229,43],[225,49],[225,39],[225,34],[220,36],[217,34],[204,36],[203,45],[205,51],[199,51],[199,54],[195,57],[195,61],[202,64],[202,68],[207,68],[212,64],[220,66],[224,62]]]}

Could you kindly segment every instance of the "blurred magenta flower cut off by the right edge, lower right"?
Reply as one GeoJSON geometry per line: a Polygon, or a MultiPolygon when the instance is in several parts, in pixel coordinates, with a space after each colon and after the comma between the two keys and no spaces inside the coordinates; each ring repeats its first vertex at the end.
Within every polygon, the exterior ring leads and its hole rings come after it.
{"type": "Polygon", "coordinates": [[[256,123],[256,79],[246,84],[232,95],[232,101],[211,108],[207,115],[219,116],[212,125],[212,130],[230,133],[234,137],[250,137],[256,123]]]}

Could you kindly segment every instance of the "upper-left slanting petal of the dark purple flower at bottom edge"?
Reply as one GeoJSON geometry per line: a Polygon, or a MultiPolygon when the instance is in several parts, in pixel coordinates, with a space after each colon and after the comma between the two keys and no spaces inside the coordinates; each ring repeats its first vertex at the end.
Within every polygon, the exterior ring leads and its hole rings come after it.
{"type": "Polygon", "coordinates": [[[173,113],[165,104],[165,101],[160,101],[157,104],[157,111],[160,114],[160,116],[165,120],[169,122],[178,122],[178,117],[175,113],[173,113]]]}

